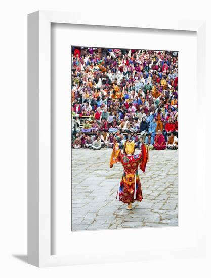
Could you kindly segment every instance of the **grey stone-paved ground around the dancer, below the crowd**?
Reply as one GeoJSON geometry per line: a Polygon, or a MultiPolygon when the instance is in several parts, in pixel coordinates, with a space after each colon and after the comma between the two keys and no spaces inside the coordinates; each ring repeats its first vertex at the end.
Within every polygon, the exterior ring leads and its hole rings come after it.
{"type": "Polygon", "coordinates": [[[123,167],[110,169],[110,154],[72,150],[72,230],[177,226],[178,150],[149,152],[145,174],[139,170],[143,200],[132,211],[116,200],[123,167]]]}

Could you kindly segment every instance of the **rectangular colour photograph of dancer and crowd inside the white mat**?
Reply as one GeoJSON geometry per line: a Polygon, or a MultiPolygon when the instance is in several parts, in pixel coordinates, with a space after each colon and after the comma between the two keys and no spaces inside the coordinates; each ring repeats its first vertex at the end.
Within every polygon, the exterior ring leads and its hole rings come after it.
{"type": "Polygon", "coordinates": [[[70,46],[71,231],[178,226],[178,54],[70,46]]]}

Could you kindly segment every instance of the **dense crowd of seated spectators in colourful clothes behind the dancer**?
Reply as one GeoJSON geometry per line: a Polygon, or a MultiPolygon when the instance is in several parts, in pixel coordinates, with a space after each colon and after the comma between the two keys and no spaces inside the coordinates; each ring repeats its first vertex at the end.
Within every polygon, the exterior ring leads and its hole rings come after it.
{"type": "Polygon", "coordinates": [[[178,149],[178,52],[72,47],[72,147],[178,149]]]}

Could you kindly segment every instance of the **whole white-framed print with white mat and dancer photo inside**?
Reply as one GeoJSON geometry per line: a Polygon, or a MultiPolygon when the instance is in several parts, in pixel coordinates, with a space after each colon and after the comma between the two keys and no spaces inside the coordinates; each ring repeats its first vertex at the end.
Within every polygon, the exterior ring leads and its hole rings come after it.
{"type": "Polygon", "coordinates": [[[204,254],[205,146],[187,103],[205,98],[205,27],[171,24],[28,15],[29,263],[204,254]]]}

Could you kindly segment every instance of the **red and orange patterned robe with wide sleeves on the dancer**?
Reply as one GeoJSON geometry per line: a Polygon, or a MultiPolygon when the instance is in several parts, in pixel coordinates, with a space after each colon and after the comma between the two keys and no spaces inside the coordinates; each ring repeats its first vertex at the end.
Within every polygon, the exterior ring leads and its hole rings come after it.
{"type": "Polygon", "coordinates": [[[141,181],[138,174],[138,167],[145,172],[148,157],[148,150],[142,144],[141,153],[136,155],[124,155],[115,143],[113,152],[111,154],[110,168],[114,163],[121,162],[124,171],[120,181],[117,196],[119,201],[123,203],[141,202],[143,199],[141,190],[141,181]],[[135,189],[136,188],[136,189],[135,189]],[[136,191],[135,191],[136,190],[136,191]]]}

